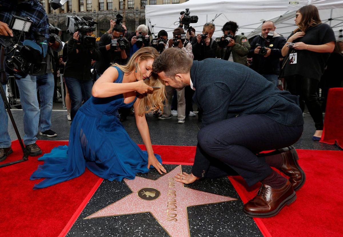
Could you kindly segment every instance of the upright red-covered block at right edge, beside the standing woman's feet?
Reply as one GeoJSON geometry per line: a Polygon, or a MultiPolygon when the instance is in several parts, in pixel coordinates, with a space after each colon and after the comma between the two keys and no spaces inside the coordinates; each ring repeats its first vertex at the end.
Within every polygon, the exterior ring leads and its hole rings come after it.
{"type": "Polygon", "coordinates": [[[329,90],[320,142],[337,143],[343,149],[343,88],[329,90]]]}

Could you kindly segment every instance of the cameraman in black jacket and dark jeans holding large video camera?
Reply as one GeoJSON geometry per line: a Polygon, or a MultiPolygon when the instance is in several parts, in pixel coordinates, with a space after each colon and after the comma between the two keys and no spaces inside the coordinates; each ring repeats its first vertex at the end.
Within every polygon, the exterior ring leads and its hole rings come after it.
{"type": "MultiPolygon", "coordinates": [[[[93,21],[90,16],[83,16],[83,20],[93,21]]],[[[91,36],[93,32],[87,32],[91,36]]],[[[92,96],[93,81],[91,78],[91,60],[99,60],[99,45],[95,42],[94,47],[87,47],[80,42],[79,32],[76,31],[68,41],[68,60],[64,68],[64,76],[71,99],[71,120],[82,104],[82,93],[85,99],[92,96]]]]}

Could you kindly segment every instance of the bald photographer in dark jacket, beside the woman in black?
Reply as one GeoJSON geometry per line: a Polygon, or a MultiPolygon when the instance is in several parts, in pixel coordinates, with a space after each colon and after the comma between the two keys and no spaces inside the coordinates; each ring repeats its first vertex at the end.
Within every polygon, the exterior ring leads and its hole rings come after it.
{"type": "Polygon", "coordinates": [[[250,44],[248,57],[252,58],[250,68],[277,86],[280,71],[279,59],[283,58],[281,49],[286,44],[286,39],[277,34],[275,28],[272,21],[263,23],[261,35],[255,37],[250,44]]]}

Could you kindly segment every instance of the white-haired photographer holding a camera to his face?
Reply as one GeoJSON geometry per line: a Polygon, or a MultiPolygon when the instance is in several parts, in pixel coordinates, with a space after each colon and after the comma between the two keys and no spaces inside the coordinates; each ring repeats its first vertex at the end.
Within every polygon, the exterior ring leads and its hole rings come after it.
{"type": "Polygon", "coordinates": [[[128,36],[130,42],[130,57],[140,48],[149,46],[148,27],[146,25],[139,25],[135,32],[131,32],[128,36]],[[141,33],[141,34],[140,34],[141,33]],[[147,40],[145,40],[147,38],[147,40]],[[139,43],[137,43],[139,41],[139,43]]]}

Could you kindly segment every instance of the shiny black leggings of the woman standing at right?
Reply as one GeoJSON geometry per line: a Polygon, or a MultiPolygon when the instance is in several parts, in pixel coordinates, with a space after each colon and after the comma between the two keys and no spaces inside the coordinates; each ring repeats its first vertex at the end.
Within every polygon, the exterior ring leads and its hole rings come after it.
{"type": "Polygon", "coordinates": [[[287,88],[292,95],[300,96],[300,108],[304,112],[305,104],[312,116],[317,130],[323,130],[323,111],[318,102],[317,88],[319,81],[300,75],[285,77],[287,88]]]}

